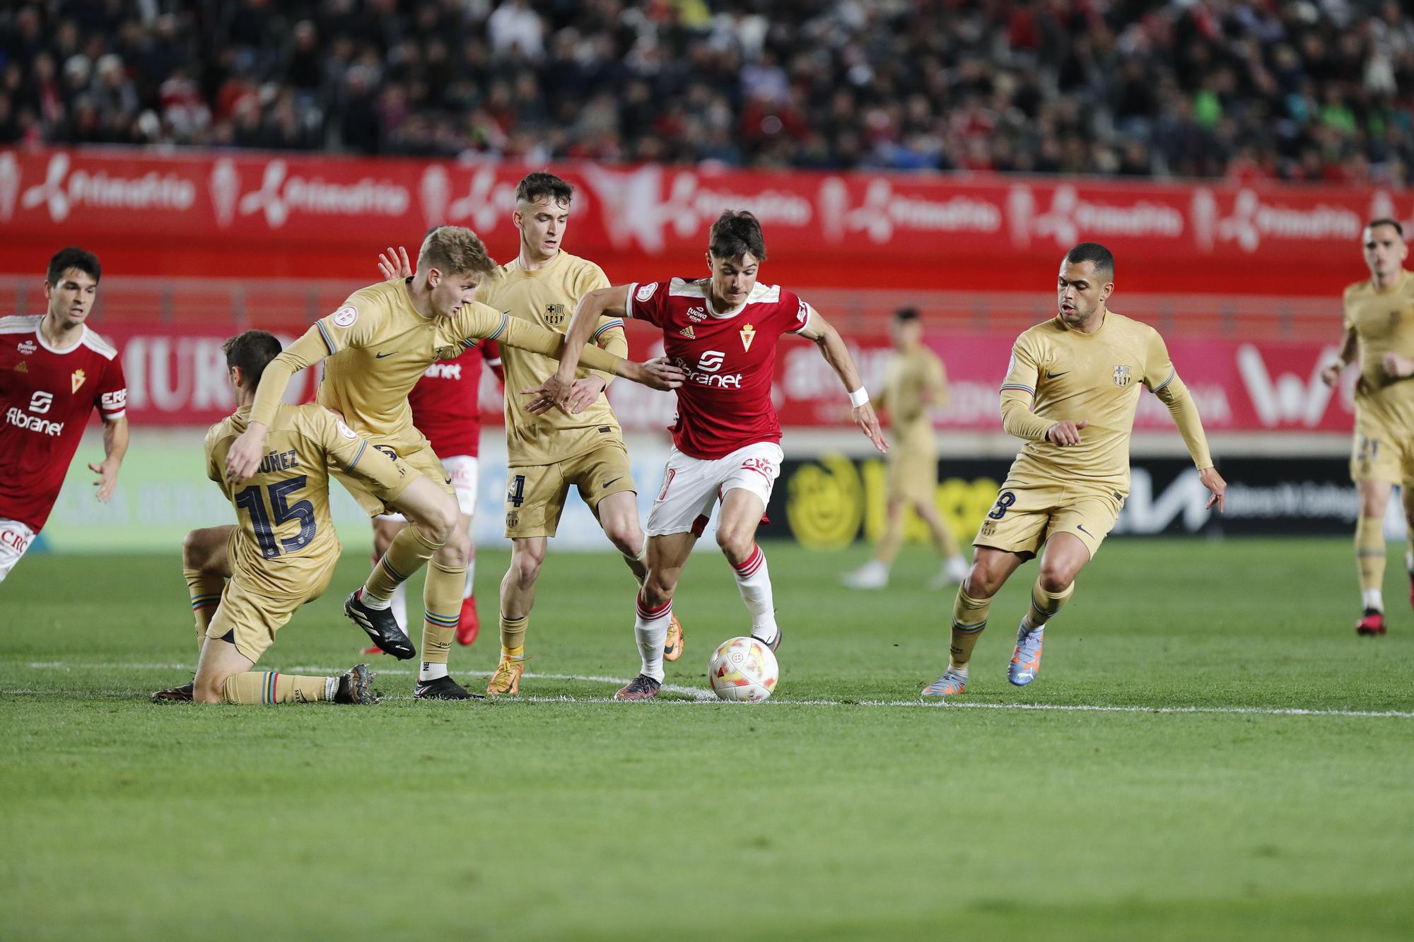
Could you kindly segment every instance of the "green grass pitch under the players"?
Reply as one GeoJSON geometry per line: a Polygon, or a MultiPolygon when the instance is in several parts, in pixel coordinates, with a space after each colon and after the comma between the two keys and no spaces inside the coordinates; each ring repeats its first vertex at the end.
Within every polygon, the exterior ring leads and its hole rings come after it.
{"type": "MultiPolygon", "coordinates": [[[[638,665],[622,563],[551,552],[523,699],[419,703],[379,658],[366,709],[153,704],[195,655],[175,556],[23,560],[0,586],[0,938],[1408,938],[1403,547],[1391,634],[1359,639],[1348,540],[1110,540],[1012,689],[1024,567],[973,661],[983,709],[889,704],[946,663],[922,552],[850,593],[863,549],[773,545],[776,696],[696,703],[677,687],[745,629],[710,550],[662,702],[604,702],[638,665]]],[[[358,659],[354,556],[262,666],[358,659]]],[[[467,686],[505,559],[478,560],[467,686]]]]}

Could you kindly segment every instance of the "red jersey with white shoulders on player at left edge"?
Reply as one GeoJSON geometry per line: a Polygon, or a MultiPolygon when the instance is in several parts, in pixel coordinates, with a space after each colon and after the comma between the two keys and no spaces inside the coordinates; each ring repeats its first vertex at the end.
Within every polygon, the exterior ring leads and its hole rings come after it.
{"type": "Polygon", "coordinates": [[[0,317],[0,519],[35,533],[49,519],[64,475],[96,407],[105,419],[127,409],[117,348],[83,328],[54,349],[40,335],[42,314],[0,317]]]}

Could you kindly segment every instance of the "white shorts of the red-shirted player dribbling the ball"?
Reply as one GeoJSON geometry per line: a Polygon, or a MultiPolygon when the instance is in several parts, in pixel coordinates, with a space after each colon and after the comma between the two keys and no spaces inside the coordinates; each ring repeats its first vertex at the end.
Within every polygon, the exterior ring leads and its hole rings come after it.
{"type": "Polygon", "coordinates": [[[711,519],[713,505],[728,491],[744,488],[771,504],[771,489],[781,477],[785,453],[775,441],[737,448],[723,458],[690,458],[677,448],[667,455],[663,482],[648,512],[648,535],[694,532],[711,519]]]}

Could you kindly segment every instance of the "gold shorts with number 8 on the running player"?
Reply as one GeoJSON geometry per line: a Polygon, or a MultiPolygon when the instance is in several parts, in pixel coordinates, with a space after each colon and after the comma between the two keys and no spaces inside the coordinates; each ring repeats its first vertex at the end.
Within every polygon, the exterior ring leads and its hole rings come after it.
{"type": "Polygon", "coordinates": [[[1031,559],[1052,533],[1073,533],[1094,559],[1120,519],[1124,495],[1094,484],[1001,485],[997,502],[981,521],[973,546],[990,546],[1031,559]]]}

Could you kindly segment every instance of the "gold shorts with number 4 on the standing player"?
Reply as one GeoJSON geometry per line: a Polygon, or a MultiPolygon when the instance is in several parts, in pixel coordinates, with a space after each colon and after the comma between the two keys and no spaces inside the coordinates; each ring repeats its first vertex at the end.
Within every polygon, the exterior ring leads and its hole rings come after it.
{"type": "Polygon", "coordinates": [[[638,492],[628,450],[618,443],[604,443],[594,451],[557,461],[530,464],[506,471],[506,536],[554,536],[564,513],[570,485],[595,513],[600,501],[621,491],[638,492]]]}

